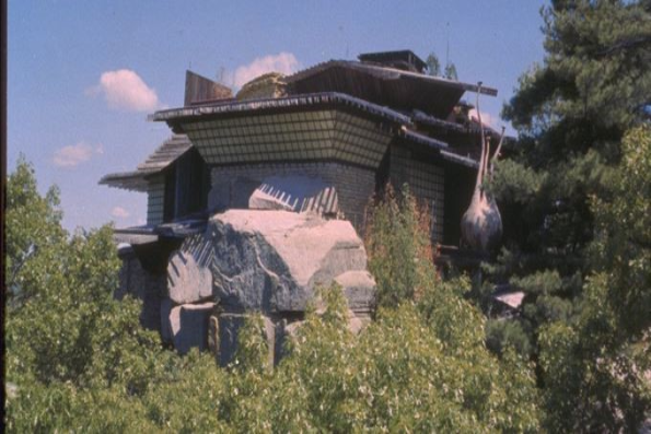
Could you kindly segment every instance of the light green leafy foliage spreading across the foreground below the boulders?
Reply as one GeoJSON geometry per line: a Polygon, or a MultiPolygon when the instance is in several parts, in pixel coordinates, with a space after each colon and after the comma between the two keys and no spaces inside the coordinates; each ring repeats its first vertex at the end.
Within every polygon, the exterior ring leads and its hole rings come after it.
{"type": "Polygon", "coordinates": [[[341,289],[319,290],[275,368],[256,314],[228,368],[208,354],[163,350],[140,328],[139,303],[113,298],[111,227],[60,238],[51,263],[25,262],[23,275],[37,273],[35,263],[48,273],[25,279],[31,296],[8,312],[8,432],[537,432],[531,367],[510,351],[497,359],[486,349],[484,317],[462,296],[469,283],[437,274],[408,191],[403,209],[390,212],[398,204],[388,203],[374,215],[399,236],[374,238],[375,251],[391,246],[408,258],[410,280],[402,284],[418,291],[385,304],[354,336],[341,289]]]}

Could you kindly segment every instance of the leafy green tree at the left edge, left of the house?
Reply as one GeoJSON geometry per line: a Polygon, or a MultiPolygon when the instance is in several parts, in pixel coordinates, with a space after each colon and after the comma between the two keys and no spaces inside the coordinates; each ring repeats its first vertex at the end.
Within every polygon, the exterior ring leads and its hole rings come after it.
{"type": "Polygon", "coordinates": [[[7,261],[22,261],[5,321],[5,380],[16,388],[5,401],[8,427],[117,430],[138,411],[121,402],[147,390],[164,356],[158,336],[140,327],[138,303],[113,300],[119,260],[112,228],[67,238],[55,192],[39,196],[24,160],[8,177],[7,261]],[[38,248],[25,260],[31,245],[38,248]]]}

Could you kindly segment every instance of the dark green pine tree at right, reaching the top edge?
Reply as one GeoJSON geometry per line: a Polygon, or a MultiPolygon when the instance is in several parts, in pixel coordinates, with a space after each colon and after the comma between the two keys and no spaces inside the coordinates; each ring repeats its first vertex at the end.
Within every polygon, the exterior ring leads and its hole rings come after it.
{"type": "Polygon", "coordinates": [[[507,243],[562,256],[573,274],[592,239],[588,198],[614,185],[624,132],[648,118],[651,12],[581,0],[554,2],[544,16],[547,56],[504,107],[520,140],[491,188],[519,214],[504,225],[507,243]]]}

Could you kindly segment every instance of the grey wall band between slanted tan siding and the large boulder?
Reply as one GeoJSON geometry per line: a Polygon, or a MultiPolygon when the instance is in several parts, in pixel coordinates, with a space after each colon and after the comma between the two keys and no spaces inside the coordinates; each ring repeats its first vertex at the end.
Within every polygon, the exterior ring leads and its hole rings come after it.
{"type": "Polygon", "coordinates": [[[337,190],[341,218],[363,234],[364,210],[375,191],[375,173],[341,163],[263,163],[212,167],[208,208],[246,209],[251,193],[265,178],[301,176],[319,178],[337,190]]]}

